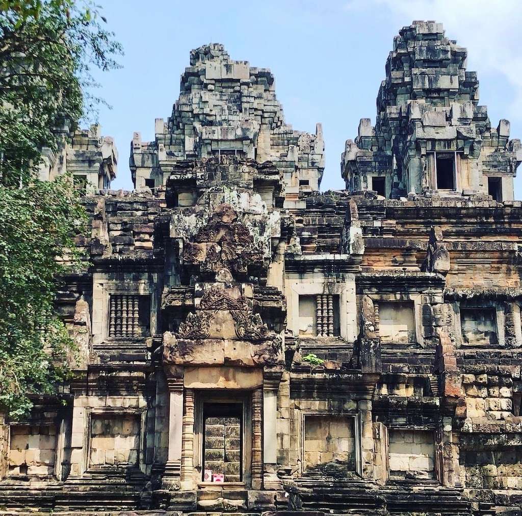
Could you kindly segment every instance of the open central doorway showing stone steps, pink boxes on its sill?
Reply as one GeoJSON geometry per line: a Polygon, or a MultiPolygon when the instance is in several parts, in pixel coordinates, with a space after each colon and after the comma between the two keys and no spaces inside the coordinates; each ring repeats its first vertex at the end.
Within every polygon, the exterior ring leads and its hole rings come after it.
{"type": "Polygon", "coordinates": [[[204,403],[203,435],[202,479],[206,482],[241,482],[243,404],[204,403]]]}

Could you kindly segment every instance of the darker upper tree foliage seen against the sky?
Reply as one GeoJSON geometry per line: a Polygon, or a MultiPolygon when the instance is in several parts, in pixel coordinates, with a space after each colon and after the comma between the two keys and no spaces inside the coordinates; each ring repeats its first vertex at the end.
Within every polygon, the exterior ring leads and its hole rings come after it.
{"type": "MultiPolygon", "coordinates": [[[[1,0],[0,0],[1,1],[1,0]]],[[[20,3],[20,2],[19,2],[20,3]]],[[[27,3],[27,2],[22,2],[27,3]]],[[[60,129],[100,101],[92,66],[116,67],[120,45],[99,16],[73,0],[42,2],[38,17],[0,11],[0,184],[27,184],[42,148],[55,150],[60,129]]]]}

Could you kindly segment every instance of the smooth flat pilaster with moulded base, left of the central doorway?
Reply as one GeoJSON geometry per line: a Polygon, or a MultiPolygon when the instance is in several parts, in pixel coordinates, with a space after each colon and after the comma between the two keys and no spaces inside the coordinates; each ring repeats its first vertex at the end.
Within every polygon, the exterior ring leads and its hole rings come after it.
{"type": "Polygon", "coordinates": [[[184,428],[183,378],[167,378],[169,388],[169,454],[163,475],[163,487],[180,488],[181,448],[184,428]]]}

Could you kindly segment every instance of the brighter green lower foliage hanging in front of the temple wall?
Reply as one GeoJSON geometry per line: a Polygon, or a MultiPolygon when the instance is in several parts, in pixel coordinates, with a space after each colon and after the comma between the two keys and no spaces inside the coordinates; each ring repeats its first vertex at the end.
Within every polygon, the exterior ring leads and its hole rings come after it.
{"type": "Polygon", "coordinates": [[[57,279],[78,259],[74,231],[85,210],[70,178],[0,188],[0,406],[30,409],[27,393],[53,393],[66,379],[72,341],[55,314],[57,279]]]}

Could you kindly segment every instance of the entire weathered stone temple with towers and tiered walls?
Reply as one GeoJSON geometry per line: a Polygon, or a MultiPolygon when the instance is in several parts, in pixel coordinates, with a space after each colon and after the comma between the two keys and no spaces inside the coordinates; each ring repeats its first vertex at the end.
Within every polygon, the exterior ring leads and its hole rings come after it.
{"type": "Polygon", "coordinates": [[[134,191],[96,127],[42,165],[86,194],[79,355],[2,419],[0,512],[520,515],[520,161],[440,23],[400,30],[324,193],[321,125],[192,51],[134,191]]]}

